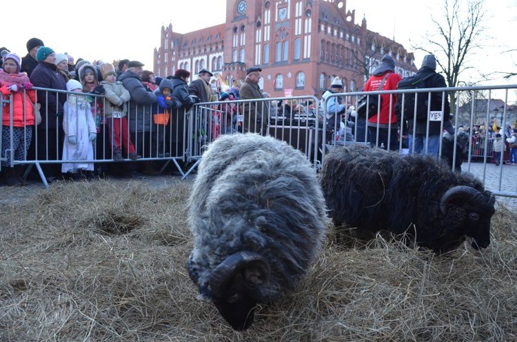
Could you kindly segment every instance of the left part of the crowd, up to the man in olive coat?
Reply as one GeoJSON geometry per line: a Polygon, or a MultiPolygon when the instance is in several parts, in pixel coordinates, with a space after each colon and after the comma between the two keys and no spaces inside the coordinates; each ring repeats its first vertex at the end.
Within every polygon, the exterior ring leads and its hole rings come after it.
{"type": "MultiPolygon", "coordinates": [[[[7,185],[26,184],[22,177],[26,170],[20,163],[25,160],[50,161],[40,164],[50,182],[96,179],[108,174],[108,163],[92,160],[169,157],[168,146],[183,142],[183,132],[170,129],[172,119],[183,127],[182,114],[195,103],[216,102],[210,106],[214,115],[210,118],[211,139],[230,132],[265,134],[267,119],[262,118],[269,111],[267,103],[249,102],[242,108],[227,103],[265,98],[258,85],[261,68],[248,68],[244,81],[235,80],[223,91],[212,88],[210,79],[214,75],[206,69],[199,70],[197,78],[189,83],[188,70],[176,70],[162,79],[144,70],[139,61],[121,59],[116,65],[74,61],[71,54],[57,53],[39,38],[29,39],[26,47],[28,53],[23,58],[8,48],[0,49],[2,97],[12,99],[14,108],[12,123],[10,106],[2,108],[1,178],[7,185]],[[259,119],[245,120],[245,111],[259,112],[259,119]],[[37,112],[41,122],[36,122],[37,112]],[[14,168],[12,160],[18,162],[14,168]]],[[[157,174],[153,161],[128,162],[114,169],[123,170],[125,177],[157,174]]],[[[39,176],[32,171],[30,177],[39,176]]]]}

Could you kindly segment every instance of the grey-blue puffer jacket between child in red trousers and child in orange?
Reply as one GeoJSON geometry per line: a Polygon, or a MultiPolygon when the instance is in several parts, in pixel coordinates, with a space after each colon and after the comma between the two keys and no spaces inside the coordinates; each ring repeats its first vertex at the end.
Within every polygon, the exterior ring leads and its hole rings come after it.
{"type": "Polygon", "coordinates": [[[152,124],[152,105],[156,103],[156,94],[148,92],[138,74],[126,70],[119,81],[131,95],[128,111],[130,132],[150,132],[152,124]]]}

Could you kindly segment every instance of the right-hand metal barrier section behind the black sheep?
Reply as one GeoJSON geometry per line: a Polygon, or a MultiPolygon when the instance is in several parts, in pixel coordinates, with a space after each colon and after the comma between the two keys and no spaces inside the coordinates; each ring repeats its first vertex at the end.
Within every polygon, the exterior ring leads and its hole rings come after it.
{"type": "MultiPolygon", "coordinates": [[[[405,110],[403,99],[413,94],[416,99],[418,96],[431,99],[434,94],[441,94],[442,101],[438,110],[431,110],[431,102],[427,101],[427,121],[425,121],[425,133],[423,135],[422,153],[429,152],[429,141],[432,139],[430,128],[432,122],[439,123],[438,134],[438,156],[446,159],[452,169],[473,172],[483,181],[485,187],[498,196],[517,197],[517,169],[511,167],[503,167],[504,161],[508,159],[508,152],[500,156],[500,163],[496,165],[494,159],[494,132],[492,125],[494,118],[497,123],[497,130],[503,134],[503,130],[507,125],[516,125],[516,118],[511,117],[511,110],[507,108],[508,92],[515,91],[515,86],[477,86],[477,87],[457,87],[457,88],[426,88],[418,90],[384,90],[376,92],[346,92],[341,94],[331,94],[330,97],[321,101],[321,110],[325,116],[327,129],[323,130],[323,158],[325,162],[325,154],[328,149],[334,148],[336,145],[346,145],[347,143],[365,143],[367,145],[375,145],[377,147],[387,148],[381,145],[379,137],[381,136],[381,128],[385,128],[394,134],[387,136],[387,144],[392,150],[398,150],[401,154],[410,153],[415,150],[415,139],[413,143],[409,143],[409,132],[414,132],[417,118],[416,105],[414,108],[405,110]],[[358,108],[359,100],[363,95],[384,94],[387,97],[378,97],[377,105],[385,98],[389,99],[389,117],[393,117],[392,121],[382,125],[379,122],[376,112],[374,114],[366,114],[360,117],[355,108],[358,108]],[[454,135],[451,136],[447,132],[441,115],[446,112],[445,98],[449,99],[449,95],[454,94],[457,99],[455,108],[451,108],[451,123],[454,135]],[[400,113],[396,116],[394,104],[397,97],[399,98],[400,113]],[[501,101],[501,99],[503,101],[501,101]],[[328,110],[327,105],[331,101],[345,104],[345,108],[353,106],[354,110],[347,112],[338,112],[337,110],[328,110]],[[460,107],[460,102],[467,103],[460,107]],[[495,109],[494,109],[495,108],[495,109]],[[404,113],[407,113],[406,115],[404,113]],[[396,118],[396,119],[395,119],[396,118]],[[339,134],[340,123],[349,121],[352,125],[352,139],[350,141],[342,141],[339,134]],[[406,125],[399,125],[399,122],[406,125]],[[411,130],[412,129],[412,130],[411,130]],[[395,141],[395,145],[393,144],[395,141]],[[463,165],[461,165],[463,164],[463,165]],[[458,165],[460,165],[458,167],[458,165]]],[[[416,102],[416,101],[415,101],[416,102]]],[[[370,97],[367,97],[367,106],[371,105],[370,97]]],[[[433,108],[434,109],[434,108],[433,108]]],[[[347,125],[345,124],[345,127],[347,125]]],[[[343,124],[341,124],[343,128],[343,124]]]]}

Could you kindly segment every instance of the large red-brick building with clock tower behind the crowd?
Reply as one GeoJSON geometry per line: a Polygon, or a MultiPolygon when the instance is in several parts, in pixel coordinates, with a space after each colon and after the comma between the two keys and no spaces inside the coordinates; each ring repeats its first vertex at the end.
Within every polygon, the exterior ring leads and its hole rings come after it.
{"type": "Polygon", "coordinates": [[[260,66],[260,86],[272,97],[321,97],[336,76],[345,92],[361,91],[386,53],[402,77],[416,72],[414,54],[367,30],[365,18],[356,23],[346,0],[227,0],[225,23],[185,34],[162,26],[154,72],[166,77],[181,68],[195,75],[207,68],[214,85],[231,86],[246,68],[260,66]]]}

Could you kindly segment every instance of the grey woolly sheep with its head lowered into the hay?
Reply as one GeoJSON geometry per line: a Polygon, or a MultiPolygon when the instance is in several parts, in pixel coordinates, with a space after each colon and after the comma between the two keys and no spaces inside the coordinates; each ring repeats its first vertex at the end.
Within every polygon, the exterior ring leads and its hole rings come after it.
{"type": "Polygon", "coordinates": [[[325,236],[325,199],[307,158],[259,134],[223,135],[203,153],[190,197],[188,272],[235,330],[257,303],[293,290],[325,236]]]}

